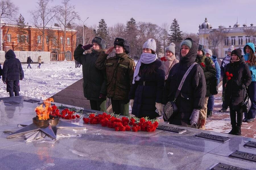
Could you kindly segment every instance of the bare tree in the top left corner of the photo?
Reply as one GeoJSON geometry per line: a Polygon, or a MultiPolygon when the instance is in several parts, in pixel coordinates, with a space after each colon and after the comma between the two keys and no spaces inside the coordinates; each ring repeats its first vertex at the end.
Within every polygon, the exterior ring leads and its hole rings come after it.
{"type": "MultiPolygon", "coordinates": [[[[18,12],[18,7],[14,5],[10,0],[1,0],[0,1],[0,34],[2,32],[2,18],[5,18],[7,20],[15,20],[16,14],[18,12]]],[[[2,36],[0,36],[0,51],[2,50],[3,42],[1,40],[2,36]]]]}

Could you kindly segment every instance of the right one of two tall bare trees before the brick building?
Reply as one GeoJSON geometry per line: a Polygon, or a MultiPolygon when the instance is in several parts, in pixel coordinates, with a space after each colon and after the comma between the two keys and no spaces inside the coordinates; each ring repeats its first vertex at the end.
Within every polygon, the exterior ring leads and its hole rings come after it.
{"type": "MultiPolygon", "coordinates": [[[[66,54],[66,33],[67,31],[72,29],[72,25],[74,25],[74,21],[80,19],[79,14],[75,12],[75,6],[71,5],[70,0],[62,0],[62,5],[57,7],[57,11],[59,11],[55,18],[59,23],[59,27],[63,31],[63,53],[66,54]]],[[[66,55],[65,55],[66,59],[66,55]]]]}

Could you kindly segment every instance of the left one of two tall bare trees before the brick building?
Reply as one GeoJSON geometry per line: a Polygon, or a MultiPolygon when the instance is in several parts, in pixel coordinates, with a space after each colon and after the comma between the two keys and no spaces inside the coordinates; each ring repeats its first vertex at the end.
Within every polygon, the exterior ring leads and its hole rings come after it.
{"type": "Polygon", "coordinates": [[[53,0],[38,0],[35,10],[28,11],[32,16],[32,22],[42,32],[42,51],[44,51],[45,29],[48,23],[57,14],[56,7],[51,7],[49,2],[53,0]]]}

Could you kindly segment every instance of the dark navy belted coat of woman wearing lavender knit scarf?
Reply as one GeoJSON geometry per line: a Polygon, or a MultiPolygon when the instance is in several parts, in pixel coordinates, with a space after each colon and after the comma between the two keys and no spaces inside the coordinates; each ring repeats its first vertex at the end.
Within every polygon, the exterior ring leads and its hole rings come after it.
{"type": "Polygon", "coordinates": [[[134,99],[132,114],[139,118],[148,116],[150,119],[154,119],[159,116],[155,112],[156,103],[163,103],[164,64],[159,59],[150,64],[142,63],[139,76],[140,80],[135,81],[129,93],[129,99],[134,99]],[[147,74],[150,69],[154,71],[147,74]]]}

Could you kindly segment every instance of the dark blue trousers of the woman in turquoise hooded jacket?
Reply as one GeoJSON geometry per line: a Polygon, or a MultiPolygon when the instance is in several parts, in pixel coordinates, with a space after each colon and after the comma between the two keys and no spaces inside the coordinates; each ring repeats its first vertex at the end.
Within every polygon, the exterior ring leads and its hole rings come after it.
{"type": "Polygon", "coordinates": [[[255,118],[256,114],[256,82],[251,82],[251,84],[248,86],[247,93],[251,100],[251,108],[248,113],[244,113],[244,117],[252,119],[255,118]]]}

